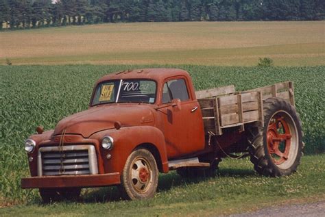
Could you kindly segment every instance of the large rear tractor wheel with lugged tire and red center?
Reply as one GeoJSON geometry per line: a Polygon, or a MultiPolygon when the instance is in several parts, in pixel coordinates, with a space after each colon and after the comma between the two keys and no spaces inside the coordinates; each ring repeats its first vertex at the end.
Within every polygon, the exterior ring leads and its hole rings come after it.
{"type": "Polygon", "coordinates": [[[302,156],[302,126],[293,106],[279,98],[263,103],[264,127],[251,127],[250,161],[261,175],[280,177],[296,172],[302,156]]]}

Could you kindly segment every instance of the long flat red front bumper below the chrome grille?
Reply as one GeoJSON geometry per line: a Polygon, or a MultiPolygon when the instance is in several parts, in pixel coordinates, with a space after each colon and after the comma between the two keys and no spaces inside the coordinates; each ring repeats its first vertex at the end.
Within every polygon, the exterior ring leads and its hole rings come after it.
{"type": "Polygon", "coordinates": [[[21,188],[68,188],[68,187],[101,187],[114,186],[121,183],[119,173],[101,175],[62,175],[29,177],[21,179],[21,188]]]}

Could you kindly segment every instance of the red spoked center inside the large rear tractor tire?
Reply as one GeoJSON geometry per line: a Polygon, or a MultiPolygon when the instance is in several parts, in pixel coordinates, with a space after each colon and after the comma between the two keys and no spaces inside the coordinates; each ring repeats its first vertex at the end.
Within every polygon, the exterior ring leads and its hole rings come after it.
{"type": "Polygon", "coordinates": [[[274,115],[267,126],[267,149],[274,164],[280,165],[288,160],[291,137],[285,117],[280,114],[274,115]]]}

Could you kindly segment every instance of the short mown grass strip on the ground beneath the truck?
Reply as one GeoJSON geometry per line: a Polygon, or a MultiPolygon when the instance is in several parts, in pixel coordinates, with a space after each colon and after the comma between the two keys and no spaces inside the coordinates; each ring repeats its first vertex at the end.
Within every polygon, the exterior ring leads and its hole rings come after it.
{"type": "MultiPolygon", "coordinates": [[[[160,175],[158,193],[147,201],[121,201],[117,189],[84,190],[78,202],[42,205],[33,197],[24,205],[4,207],[1,216],[216,216],[262,207],[325,199],[325,155],[302,157],[289,177],[256,175],[249,159],[226,159],[215,178],[182,179],[160,175]]],[[[36,191],[36,190],[32,190],[36,191]]]]}

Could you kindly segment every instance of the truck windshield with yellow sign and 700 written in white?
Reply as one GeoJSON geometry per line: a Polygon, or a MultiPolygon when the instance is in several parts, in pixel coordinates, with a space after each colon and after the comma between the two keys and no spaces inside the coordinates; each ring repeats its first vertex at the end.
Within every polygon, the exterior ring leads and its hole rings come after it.
{"type": "Polygon", "coordinates": [[[104,81],[99,84],[91,105],[104,103],[149,103],[156,101],[156,82],[141,79],[104,81]]]}

